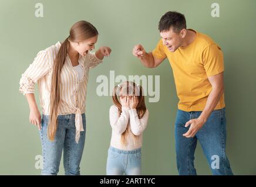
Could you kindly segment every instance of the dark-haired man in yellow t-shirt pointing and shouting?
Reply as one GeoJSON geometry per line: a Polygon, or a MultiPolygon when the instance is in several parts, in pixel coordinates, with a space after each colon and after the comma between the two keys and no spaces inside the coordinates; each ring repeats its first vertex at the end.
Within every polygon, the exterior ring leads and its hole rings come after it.
{"type": "Polygon", "coordinates": [[[220,47],[208,36],[187,29],[178,12],[167,12],[159,22],[161,40],[146,53],[138,44],[133,55],[155,68],[166,58],[173,68],[178,111],[175,122],[177,168],[180,175],[196,175],[197,140],[213,175],[233,175],[225,154],[224,63],[220,47]]]}

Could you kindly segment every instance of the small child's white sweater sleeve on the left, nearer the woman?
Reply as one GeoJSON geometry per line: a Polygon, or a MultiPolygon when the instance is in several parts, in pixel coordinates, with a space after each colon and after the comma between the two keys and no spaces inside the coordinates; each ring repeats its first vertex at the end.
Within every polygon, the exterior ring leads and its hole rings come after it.
{"type": "Polygon", "coordinates": [[[109,120],[113,131],[117,134],[122,134],[126,130],[129,121],[129,108],[122,107],[122,113],[119,116],[118,108],[114,105],[111,106],[109,120]]]}

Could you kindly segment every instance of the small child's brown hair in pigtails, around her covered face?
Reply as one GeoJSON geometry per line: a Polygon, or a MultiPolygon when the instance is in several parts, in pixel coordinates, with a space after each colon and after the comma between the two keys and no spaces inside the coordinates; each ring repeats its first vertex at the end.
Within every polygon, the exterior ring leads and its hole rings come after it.
{"type": "MultiPolygon", "coordinates": [[[[144,116],[144,113],[146,112],[146,105],[144,101],[144,94],[143,94],[143,88],[140,85],[136,85],[134,82],[122,82],[122,84],[116,85],[113,90],[112,99],[114,105],[118,108],[119,116],[122,113],[122,105],[119,102],[119,96],[137,96],[138,98],[138,105],[136,107],[137,114],[139,116],[139,119],[142,119],[144,116]],[[122,92],[122,93],[121,93],[122,92]]],[[[128,134],[130,133],[130,127],[127,126],[127,129],[123,132],[121,136],[121,142],[123,145],[126,144],[126,138],[128,134]]],[[[133,134],[133,133],[132,133],[133,134]]],[[[136,135],[133,134],[134,143],[136,143],[136,139],[138,138],[136,135]]]]}

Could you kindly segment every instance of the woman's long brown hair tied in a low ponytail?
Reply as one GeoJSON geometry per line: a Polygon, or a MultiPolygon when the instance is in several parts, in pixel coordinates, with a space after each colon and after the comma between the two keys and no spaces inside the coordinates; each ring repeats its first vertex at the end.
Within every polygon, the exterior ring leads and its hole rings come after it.
{"type": "Polygon", "coordinates": [[[69,37],[67,37],[60,46],[60,49],[53,64],[52,85],[50,90],[50,116],[47,131],[49,140],[55,139],[55,134],[58,127],[57,116],[60,101],[60,72],[66,61],[68,48],[70,46],[69,41],[79,43],[97,35],[97,29],[91,23],[86,22],[85,20],[81,20],[79,22],[76,22],[71,27],[69,31],[69,37]]]}

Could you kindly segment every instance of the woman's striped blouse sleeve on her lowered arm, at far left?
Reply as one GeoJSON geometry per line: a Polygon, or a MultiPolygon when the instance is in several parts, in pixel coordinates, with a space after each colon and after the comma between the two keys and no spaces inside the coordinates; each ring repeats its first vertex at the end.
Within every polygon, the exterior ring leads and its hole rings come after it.
{"type": "Polygon", "coordinates": [[[19,81],[19,92],[25,95],[26,93],[34,93],[34,84],[40,78],[48,74],[50,71],[49,58],[47,51],[39,51],[32,64],[22,74],[19,81]]]}

